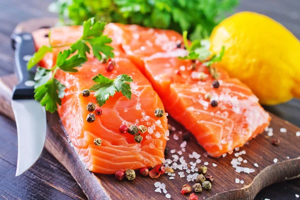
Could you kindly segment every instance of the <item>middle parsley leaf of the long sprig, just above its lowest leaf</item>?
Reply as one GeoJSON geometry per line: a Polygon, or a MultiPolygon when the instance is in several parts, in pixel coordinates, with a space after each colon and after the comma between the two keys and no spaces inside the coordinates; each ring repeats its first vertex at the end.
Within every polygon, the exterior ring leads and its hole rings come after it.
{"type": "Polygon", "coordinates": [[[71,54],[71,50],[63,50],[62,52],[59,51],[57,58],[56,58],[56,66],[58,66],[60,69],[64,71],[69,71],[69,72],[76,72],[78,71],[74,67],[81,66],[83,62],[87,60],[86,57],[82,57],[80,54],[75,54],[71,56],[70,58],[69,55],[71,54]]]}

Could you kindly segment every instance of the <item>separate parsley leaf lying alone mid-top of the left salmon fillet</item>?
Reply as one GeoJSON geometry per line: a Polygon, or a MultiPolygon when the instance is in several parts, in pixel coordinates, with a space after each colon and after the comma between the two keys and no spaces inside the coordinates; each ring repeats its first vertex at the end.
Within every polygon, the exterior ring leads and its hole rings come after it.
{"type": "Polygon", "coordinates": [[[91,91],[95,91],[94,96],[99,106],[102,106],[109,96],[113,96],[115,91],[121,91],[126,98],[131,99],[130,85],[132,78],[126,74],[120,74],[115,79],[109,79],[98,74],[92,78],[96,84],[90,87],[91,91]]]}

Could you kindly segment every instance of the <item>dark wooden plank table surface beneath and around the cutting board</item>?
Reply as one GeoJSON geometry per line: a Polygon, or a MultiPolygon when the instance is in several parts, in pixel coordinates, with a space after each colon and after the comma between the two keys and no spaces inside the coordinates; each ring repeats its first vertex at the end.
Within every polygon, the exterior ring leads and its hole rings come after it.
{"type": "MultiPolygon", "coordinates": [[[[0,76],[13,73],[9,39],[13,28],[29,18],[55,16],[47,11],[51,1],[0,0],[0,76]]],[[[300,0],[241,0],[235,11],[241,10],[266,14],[300,38],[300,0]]],[[[299,99],[265,109],[300,126],[299,99]]],[[[86,199],[68,171],[46,150],[33,167],[18,177],[14,176],[16,158],[15,122],[0,115],[0,199],[86,199]]],[[[270,185],[255,199],[299,199],[295,194],[300,195],[300,178],[270,185]]]]}

